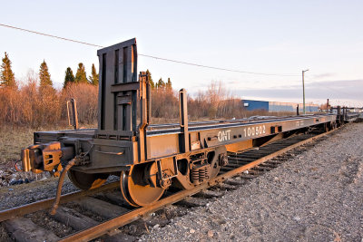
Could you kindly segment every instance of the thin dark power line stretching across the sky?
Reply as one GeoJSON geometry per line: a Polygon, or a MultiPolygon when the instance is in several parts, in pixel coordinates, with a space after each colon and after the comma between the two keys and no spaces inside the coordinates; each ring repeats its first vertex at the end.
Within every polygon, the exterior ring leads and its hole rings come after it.
{"type": "MultiPolygon", "coordinates": [[[[64,41],[74,42],[74,43],[77,43],[77,44],[86,44],[86,45],[90,45],[90,46],[93,46],[93,47],[104,48],[104,46],[102,46],[102,45],[90,44],[90,43],[86,43],[86,42],[82,42],[82,41],[77,41],[77,40],[73,40],[73,39],[69,39],[69,38],[64,38],[64,37],[56,36],[56,35],[53,35],[53,34],[45,34],[45,33],[37,32],[37,31],[25,29],[25,28],[15,27],[15,26],[12,26],[12,25],[0,24],[0,26],[7,27],[7,28],[12,28],[12,29],[16,29],[16,30],[20,30],[20,31],[32,33],[32,34],[40,34],[40,35],[44,35],[44,36],[47,36],[47,37],[52,37],[52,38],[55,38],[55,39],[60,39],[60,40],[64,40],[64,41]]],[[[254,73],[254,72],[247,72],[247,71],[240,71],[240,70],[233,70],[233,69],[227,69],[227,68],[209,66],[209,65],[199,64],[199,63],[187,63],[187,62],[182,62],[182,61],[177,61],[177,60],[162,58],[162,57],[158,57],[158,56],[153,56],[153,55],[149,55],[149,54],[139,53],[139,55],[140,56],[143,56],[143,57],[147,57],[147,58],[152,58],[152,59],[156,59],[156,60],[165,61],[165,62],[182,63],[182,64],[186,64],[186,65],[192,65],[192,66],[197,66],[197,67],[202,67],[202,68],[208,68],[208,69],[214,69],[214,70],[220,70],[220,71],[231,72],[231,73],[246,73],[246,74],[272,75],[272,76],[299,76],[298,74],[254,73]]]]}

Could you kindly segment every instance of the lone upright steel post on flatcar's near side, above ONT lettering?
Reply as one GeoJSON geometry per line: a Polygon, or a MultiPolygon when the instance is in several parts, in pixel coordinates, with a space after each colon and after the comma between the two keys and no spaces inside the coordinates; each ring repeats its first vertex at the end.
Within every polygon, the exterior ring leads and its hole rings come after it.
{"type": "Polygon", "coordinates": [[[187,104],[187,92],[185,89],[179,91],[179,118],[181,125],[181,151],[189,152],[189,131],[188,131],[188,104],[187,104]]]}

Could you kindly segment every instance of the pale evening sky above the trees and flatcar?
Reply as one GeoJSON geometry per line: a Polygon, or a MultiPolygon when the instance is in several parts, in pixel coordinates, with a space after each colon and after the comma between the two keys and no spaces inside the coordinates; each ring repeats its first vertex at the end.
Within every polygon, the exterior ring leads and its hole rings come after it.
{"type": "MultiPolygon", "coordinates": [[[[231,73],[140,56],[138,71],[191,94],[211,82],[239,98],[363,106],[363,1],[3,1],[0,24],[108,46],[136,37],[138,53],[253,73],[231,73]]],[[[98,69],[97,47],[0,26],[24,82],[45,60],[61,88],[69,66],[98,69]]]]}

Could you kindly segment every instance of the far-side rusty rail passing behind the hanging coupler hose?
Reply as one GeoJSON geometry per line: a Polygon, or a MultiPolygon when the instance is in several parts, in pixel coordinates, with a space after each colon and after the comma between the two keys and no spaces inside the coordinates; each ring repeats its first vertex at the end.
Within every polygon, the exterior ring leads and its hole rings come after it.
{"type": "MultiPolygon", "coordinates": [[[[100,188],[97,189],[89,189],[89,190],[81,190],[81,191],[74,191],[68,194],[64,194],[61,197],[60,204],[64,204],[66,202],[73,201],[78,198],[83,198],[85,196],[93,195],[95,193],[109,190],[109,189],[116,189],[120,187],[119,181],[114,181],[108,184],[103,185],[100,188]]],[[[29,203],[23,206],[19,206],[16,208],[8,208],[5,210],[0,211],[0,222],[8,220],[8,219],[14,219],[19,218],[22,216],[25,216],[29,213],[34,213],[36,211],[44,210],[45,208],[51,208],[54,203],[54,198],[46,198],[40,201],[36,201],[33,203],[29,203]]]]}

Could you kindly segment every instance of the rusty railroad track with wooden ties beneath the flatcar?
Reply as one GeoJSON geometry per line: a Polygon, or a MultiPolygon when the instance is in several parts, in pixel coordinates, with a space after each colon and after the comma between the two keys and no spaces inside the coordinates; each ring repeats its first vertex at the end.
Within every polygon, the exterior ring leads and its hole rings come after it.
{"type": "Polygon", "coordinates": [[[140,228],[147,232],[150,226],[165,224],[165,219],[160,216],[148,217],[155,211],[171,204],[176,204],[179,213],[185,213],[186,208],[203,206],[208,199],[221,197],[224,194],[221,190],[237,189],[246,184],[246,181],[278,167],[291,156],[308,150],[315,140],[323,139],[331,132],[333,131],[301,134],[275,141],[260,149],[229,152],[229,164],[221,169],[216,178],[194,189],[168,191],[157,203],[144,208],[132,208],[123,202],[120,190],[117,190],[119,182],[112,182],[98,189],[66,194],[61,198],[57,214],[50,217],[65,227],[72,228],[64,237],[50,231],[46,223],[45,227],[41,227],[31,219],[32,214],[43,213],[44,216],[44,210],[51,208],[54,198],[0,211],[0,222],[16,241],[89,241],[97,238],[103,241],[132,241],[136,237],[130,237],[125,232],[136,232],[140,228]],[[138,222],[132,224],[133,229],[132,226],[124,229],[136,220],[138,222]]]}

